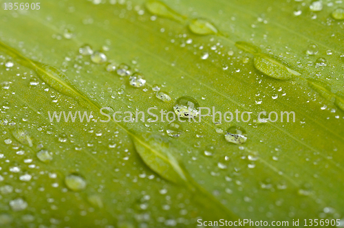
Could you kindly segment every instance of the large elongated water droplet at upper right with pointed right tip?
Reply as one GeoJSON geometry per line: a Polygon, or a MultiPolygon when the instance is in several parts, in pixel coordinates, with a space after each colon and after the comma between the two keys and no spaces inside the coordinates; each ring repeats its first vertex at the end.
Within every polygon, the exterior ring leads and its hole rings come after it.
{"type": "Polygon", "coordinates": [[[269,54],[257,54],[253,61],[255,68],[271,78],[287,80],[292,76],[301,76],[301,73],[294,71],[288,63],[269,54]]]}

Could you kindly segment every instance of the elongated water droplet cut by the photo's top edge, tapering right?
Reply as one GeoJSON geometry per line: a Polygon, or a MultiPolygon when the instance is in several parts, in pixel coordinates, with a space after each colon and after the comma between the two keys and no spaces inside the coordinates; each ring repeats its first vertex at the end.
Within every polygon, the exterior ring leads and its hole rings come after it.
{"type": "Polygon", "coordinates": [[[168,19],[173,19],[179,22],[184,21],[184,16],[178,14],[177,12],[169,8],[169,6],[167,6],[165,3],[162,3],[162,1],[157,1],[157,0],[147,1],[146,8],[149,12],[151,12],[151,14],[163,16],[168,19]]]}

